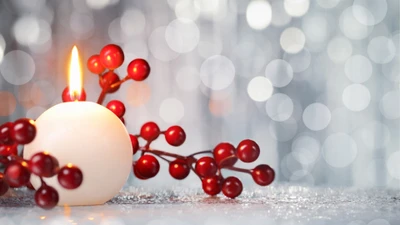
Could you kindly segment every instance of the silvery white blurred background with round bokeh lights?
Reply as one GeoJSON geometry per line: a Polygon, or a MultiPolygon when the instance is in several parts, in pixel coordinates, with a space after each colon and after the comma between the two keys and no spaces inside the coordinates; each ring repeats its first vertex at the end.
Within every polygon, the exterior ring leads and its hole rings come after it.
{"type": "MultiPolygon", "coordinates": [[[[126,103],[128,130],[179,124],[190,154],[256,140],[277,182],[398,188],[398,0],[1,0],[0,122],[61,102],[73,45],[86,61],[108,43],[149,61],[126,103]]],[[[100,93],[85,69],[88,99],[100,93]]],[[[99,121],[101,122],[101,121],[99,121]]],[[[112,131],[110,131],[112,132],[112,131]]],[[[106,137],[104,137],[106,138],[106,137]]],[[[110,149],[112,151],[112,149],[110,149]]],[[[200,187],[193,174],[126,187],[200,187]]],[[[225,173],[229,175],[229,172],[225,173]]],[[[245,186],[251,177],[238,175],[245,186]]]]}

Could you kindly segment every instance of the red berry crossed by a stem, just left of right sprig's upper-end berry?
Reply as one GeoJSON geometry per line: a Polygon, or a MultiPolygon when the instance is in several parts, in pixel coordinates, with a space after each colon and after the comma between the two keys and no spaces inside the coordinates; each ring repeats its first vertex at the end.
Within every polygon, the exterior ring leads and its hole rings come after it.
{"type": "Polygon", "coordinates": [[[237,162],[236,149],[229,143],[223,142],[215,146],[213,154],[219,167],[231,167],[237,162]]]}

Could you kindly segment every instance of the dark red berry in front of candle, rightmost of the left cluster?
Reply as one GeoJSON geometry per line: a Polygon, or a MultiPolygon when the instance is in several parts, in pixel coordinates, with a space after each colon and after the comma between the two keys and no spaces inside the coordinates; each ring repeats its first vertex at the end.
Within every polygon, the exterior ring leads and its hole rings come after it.
{"type": "Polygon", "coordinates": [[[68,163],[67,166],[60,169],[57,179],[65,189],[75,189],[82,184],[83,174],[78,167],[68,163]]]}

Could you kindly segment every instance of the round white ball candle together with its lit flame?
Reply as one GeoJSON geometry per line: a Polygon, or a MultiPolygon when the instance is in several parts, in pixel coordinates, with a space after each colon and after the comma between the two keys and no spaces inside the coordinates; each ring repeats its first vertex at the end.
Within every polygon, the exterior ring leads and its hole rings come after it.
{"type": "MultiPolygon", "coordinates": [[[[72,50],[69,70],[70,95],[82,94],[78,50],[72,50]]],[[[121,122],[107,108],[93,102],[66,102],[53,106],[36,120],[36,138],[24,147],[24,158],[47,151],[60,165],[72,163],[83,173],[77,189],[60,186],[57,177],[44,178],[59,194],[58,205],[97,205],[115,196],[125,184],[132,166],[132,145],[121,122]]],[[[38,189],[41,182],[33,176],[38,189]]]]}

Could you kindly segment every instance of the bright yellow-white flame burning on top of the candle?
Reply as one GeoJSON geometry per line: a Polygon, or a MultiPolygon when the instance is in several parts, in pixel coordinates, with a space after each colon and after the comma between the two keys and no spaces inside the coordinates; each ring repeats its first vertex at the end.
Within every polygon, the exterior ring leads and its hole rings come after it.
{"type": "Polygon", "coordinates": [[[69,63],[69,94],[76,99],[82,93],[82,66],[79,60],[78,48],[76,45],[72,48],[71,61],[69,63]]]}

